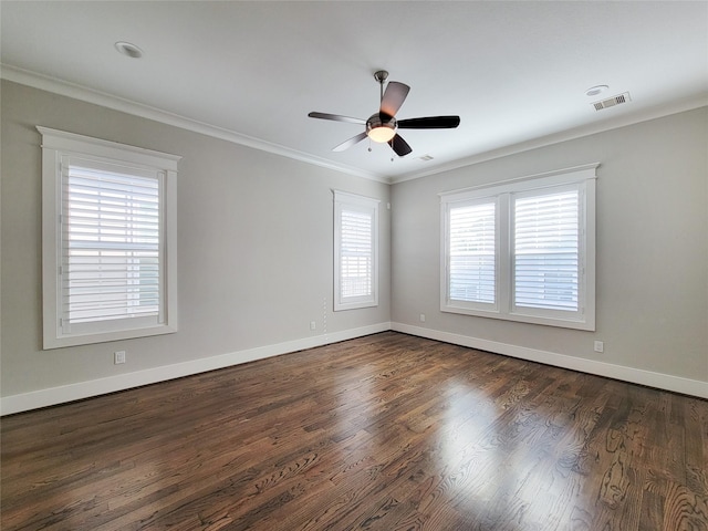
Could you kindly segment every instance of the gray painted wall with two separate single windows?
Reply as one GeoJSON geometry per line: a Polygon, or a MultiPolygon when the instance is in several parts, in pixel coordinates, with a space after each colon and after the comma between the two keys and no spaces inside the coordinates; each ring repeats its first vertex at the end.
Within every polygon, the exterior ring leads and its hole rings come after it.
{"type": "Polygon", "coordinates": [[[324,333],[325,317],[329,334],[388,323],[388,185],[6,81],[1,97],[2,396],[309,339],[324,333]],[[184,157],[178,333],[41,350],[37,125],[184,157]],[[376,309],[332,312],[332,189],[382,200],[376,309]],[[127,352],[125,365],[113,364],[116,350],[127,352]]]}

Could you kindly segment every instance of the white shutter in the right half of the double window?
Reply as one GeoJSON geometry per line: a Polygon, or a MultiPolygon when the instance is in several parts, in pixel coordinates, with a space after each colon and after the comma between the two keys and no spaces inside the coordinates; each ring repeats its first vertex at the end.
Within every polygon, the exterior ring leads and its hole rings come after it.
{"type": "Polygon", "coordinates": [[[514,304],[579,310],[580,191],[514,199],[514,304]]]}

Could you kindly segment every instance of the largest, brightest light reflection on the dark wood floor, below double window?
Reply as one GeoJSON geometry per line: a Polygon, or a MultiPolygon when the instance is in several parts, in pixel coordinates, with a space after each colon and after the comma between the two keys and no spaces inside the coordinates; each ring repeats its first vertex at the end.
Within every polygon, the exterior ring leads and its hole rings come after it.
{"type": "Polygon", "coordinates": [[[572,507],[580,481],[559,465],[565,456],[550,454],[550,448],[558,452],[558,440],[551,445],[550,439],[563,435],[553,416],[544,415],[542,407],[507,410],[461,382],[445,393],[449,406],[440,430],[440,470],[456,510],[470,521],[503,521],[510,529],[549,524],[550,513],[568,517],[564,507],[572,507]]]}

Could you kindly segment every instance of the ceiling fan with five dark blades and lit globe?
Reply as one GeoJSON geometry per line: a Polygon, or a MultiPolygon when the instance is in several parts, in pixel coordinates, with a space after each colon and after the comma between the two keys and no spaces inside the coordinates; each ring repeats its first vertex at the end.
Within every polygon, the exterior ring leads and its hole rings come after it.
{"type": "Polygon", "coordinates": [[[377,113],[372,114],[368,119],[317,112],[308,114],[311,118],[348,122],[351,124],[366,126],[366,131],[335,146],[332,148],[333,152],[348,149],[368,136],[374,142],[382,144],[387,143],[396,155],[403,157],[413,152],[413,149],[408,143],[396,133],[397,129],[451,129],[460,125],[459,116],[426,116],[420,118],[396,119],[396,113],[406,100],[410,87],[397,81],[389,81],[384,91],[384,82],[387,77],[388,72],[385,70],[379,70],[374,73],[374,79],[381,86],[381,108],[377,113]]]}

